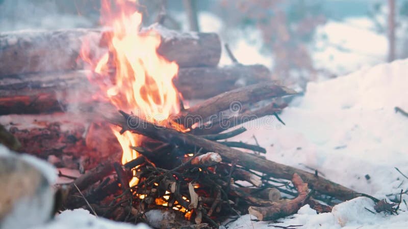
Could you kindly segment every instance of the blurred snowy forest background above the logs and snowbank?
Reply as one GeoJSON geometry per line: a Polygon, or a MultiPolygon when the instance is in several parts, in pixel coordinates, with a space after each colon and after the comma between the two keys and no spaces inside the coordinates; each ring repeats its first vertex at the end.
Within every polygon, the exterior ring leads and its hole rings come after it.
{"type": "MultiPolygon", "coordinates": [[[[144,24],[216,32],[295,89],[408,58],[408,0],[138,0],[144,24]]],[[[0,32],[99,26],[100,0],[0,0],[0,32]]],[[[231,64],[225,52],[221,64],[231,64]]]]}

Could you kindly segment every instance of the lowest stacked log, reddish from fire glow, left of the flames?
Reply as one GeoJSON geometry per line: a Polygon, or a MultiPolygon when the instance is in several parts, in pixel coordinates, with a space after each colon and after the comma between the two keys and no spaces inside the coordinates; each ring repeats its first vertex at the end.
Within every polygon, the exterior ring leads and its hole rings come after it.
{"type": "Polygon", "coordinates": [[[87,123],[84,115],[73,113],[0,116],[0,124],[21,144],[18,152],[81,171],[122,150],[107,126],[87,123]]]}

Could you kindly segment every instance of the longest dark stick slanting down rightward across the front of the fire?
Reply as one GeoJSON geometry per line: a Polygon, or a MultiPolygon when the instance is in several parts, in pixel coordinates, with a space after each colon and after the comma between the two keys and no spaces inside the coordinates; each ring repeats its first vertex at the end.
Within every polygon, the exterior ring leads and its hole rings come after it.
{"type": "Polygon", "coordinates": [[[118,120],[111,120],[111,122],[121,126],[121,132],[129,130],[174,145],[199,147],[208,152],[217,152],[225,162],[236,162],[243,167],[260,171],[261,173],[265,173],[275,178],[291,180],[293,174],[296,173],[304,182],[309,183],[314,190],[322,194],[334,196],[341,200],[348,200],[356,196],[361,196],[360,193],[356,193],[349,188],[324,178],[315,177],[314,174],[308,173],[307,171],[261,159],[252,154],[224,146],[219,142],[210,141],[199,136],[182,133],[165,127],[158,127],[136,116],[130,116],[123,111],[119,112],[123,115],[124,120],[123,117],[118,117],[118,120]]]}

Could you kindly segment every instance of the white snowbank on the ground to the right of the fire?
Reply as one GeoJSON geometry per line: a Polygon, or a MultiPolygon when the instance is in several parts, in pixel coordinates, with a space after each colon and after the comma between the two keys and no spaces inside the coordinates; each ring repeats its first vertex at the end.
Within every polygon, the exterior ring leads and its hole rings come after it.
{"type": "MultiPolygon", "coordinates": [[[[303,97],[296,98],[277,120],[266,117],[247,123],[248,131],[231,140],[246,140],[267,149],[270,160],[304,170],[317,169],[326,179],[377,198],[399,198],[408,180],[408,118],[394,107],[408,110],[408,60],[365,68],[319,83],[309,83],[303,97]],[[313,169],[310,169],[313,168],[313,169]],[[369,175],[370,179],[366,179],[369,175]],[[387,196],[387,194],[392,194],[387,196]]],[[[403,199],[408,199],[402,195],[403,199]]],[[[408,212],[401,204],[398,216],[373,214],[374,203],[356,198],[336,206],[331,213],[316,214],[302,207],[294,218],[278,225],[301,228],[406,228],[408,212]]],[[[253,219],[254,217],[251,216],[253,219]]],[[[228,228],[267,228],[242,216],[228,228]],[[245,226],[244,226],[245,227],[245,226]]],[[[273,228],[273,227],[268,227],[273,228]]]]}

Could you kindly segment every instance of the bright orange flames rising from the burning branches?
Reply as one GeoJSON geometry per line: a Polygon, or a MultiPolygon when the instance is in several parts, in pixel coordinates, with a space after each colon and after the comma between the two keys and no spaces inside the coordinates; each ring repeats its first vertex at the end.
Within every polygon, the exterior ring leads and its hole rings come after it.
{"type": "MultiPolygon", "coordinates": [[[[84,43],[81,58],[91,64],[97,82],[105,97],[118,109],[150,122],[162,122],[180,110],[178,92],[172,79],[179,66],[157,53],[161,37],[155,31],[140,33],[142,15],[136,11],[135,0],[102,1],[101,22],[112,28],[109,51],[96,62],[91,61],[89,45],[84,43]]],[[[141,137],[130,132],[112,131],[123,149],[122,163],[138,156],[130,146],[141,144],[141,137]]],[[[130,185],[134,186],[134,178],[130,185]]]]}

